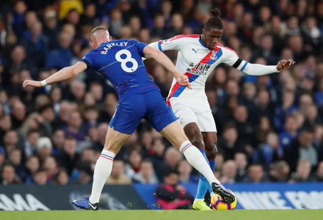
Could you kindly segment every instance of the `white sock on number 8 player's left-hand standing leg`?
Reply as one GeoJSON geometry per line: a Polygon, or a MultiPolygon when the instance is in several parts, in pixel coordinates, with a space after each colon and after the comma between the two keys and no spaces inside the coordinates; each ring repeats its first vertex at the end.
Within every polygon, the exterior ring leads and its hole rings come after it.
{"type": "Polygon", "coordinates": [[[93,175],[92,193],[89,198],[90,203],[95,204],[99,202],[105,181],[111,174],[113,159],[115,156],[116,154],[110,152],[109,150],[102,150],[100,157],[96,161],[93,175]]]}

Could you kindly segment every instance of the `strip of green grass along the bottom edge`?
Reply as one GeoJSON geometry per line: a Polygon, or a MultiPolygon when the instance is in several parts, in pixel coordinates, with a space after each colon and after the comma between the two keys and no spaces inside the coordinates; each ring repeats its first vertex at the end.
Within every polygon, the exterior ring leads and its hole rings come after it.
{"type": "Polygon", "coordinates": [[[1,220],[316,220],[323,209],[303,210],[133,210],[133,211],[0,211],[1,220]]]}

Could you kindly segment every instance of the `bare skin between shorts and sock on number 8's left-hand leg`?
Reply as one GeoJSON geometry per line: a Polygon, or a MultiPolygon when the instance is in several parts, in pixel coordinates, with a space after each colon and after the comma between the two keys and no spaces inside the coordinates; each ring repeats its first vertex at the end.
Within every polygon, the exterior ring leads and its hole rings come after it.
{"type": "Polygon", "coordinates": [[[131,134],[124,134],[116,131],[113,127],[109,127],[105,136],[104,150],[117,154],[130,136],[131,134]]]}

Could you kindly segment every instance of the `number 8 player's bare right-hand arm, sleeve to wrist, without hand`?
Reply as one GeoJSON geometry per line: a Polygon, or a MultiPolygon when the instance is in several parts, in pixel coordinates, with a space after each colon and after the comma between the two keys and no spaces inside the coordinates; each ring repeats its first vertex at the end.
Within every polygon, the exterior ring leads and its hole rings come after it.
{"type": "Polygon", "coordinates": [[[161,51],[152,48],[151,46],[145,46],[143,49],[146,58],[152,58],[159,64],[163,65],[171,74],[175,77],[181,77],[183,74],[178,71],[173,62],[161,51]]]}

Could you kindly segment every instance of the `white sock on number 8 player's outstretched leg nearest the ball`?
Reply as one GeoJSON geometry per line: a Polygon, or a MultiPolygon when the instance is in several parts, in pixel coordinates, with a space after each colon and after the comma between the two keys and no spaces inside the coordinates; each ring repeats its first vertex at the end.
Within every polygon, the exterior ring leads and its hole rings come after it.
{"type": "Polygon", "coordinates": [[[193,146],[190,141],[187,140],[182,143],[180,151],[184,154],[192,167],[200,172],[210,184],[217,183],[221,185],[220,181],[214,176],[202,153],[197,149],[197,147],[193,146]]]}

